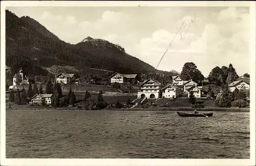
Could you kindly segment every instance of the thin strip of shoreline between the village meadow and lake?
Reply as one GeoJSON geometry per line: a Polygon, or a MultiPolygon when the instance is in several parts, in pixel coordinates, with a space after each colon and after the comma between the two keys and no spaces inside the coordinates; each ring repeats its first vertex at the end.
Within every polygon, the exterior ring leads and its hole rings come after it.
{"type": "MultiPolygon", "coordinates": [[[[67,110],[82,110],[84,111],[85,109],[81,108],[63,108],[63,109],[56,109],[56,108],[19,108],[19,109],[15,109],[15,108],[6,108],[6,110],[63,110],[63,111],[67,111],[67,110]]],[[[127,111],[127,110],[133,110],[133,111],[169,111],[169,112],[174,112],[174,111],[193,111],[195,110],[195,108],[189,108],[189,107],[166,107],[166,108],[111,108],[111,109],[99,109],[99,110],[123,110],[123,111],[127,111]]],[[[221,108],[221,107],[210,107],[210,108],[197,108],[198,111],[201,112],[242,112],[242,113],[249,113],[250,112],[250,108],[221,108]]],[[[86,110],[86,111],[94,111],[94,110],[86,110]]]]}

